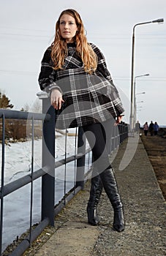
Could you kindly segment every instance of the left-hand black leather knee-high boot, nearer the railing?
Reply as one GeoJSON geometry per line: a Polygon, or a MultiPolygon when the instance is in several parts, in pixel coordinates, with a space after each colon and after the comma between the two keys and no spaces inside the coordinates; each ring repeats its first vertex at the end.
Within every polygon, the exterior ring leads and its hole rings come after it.
{"type": "Polygon", "coordinates": [[[97,205],[101,194],[102,181],[99,175],[97,175],[91,178],[91,190],[87,206],[88,223],[94,226],[99,224],[99,219],[97,217],[97,205]]]}

